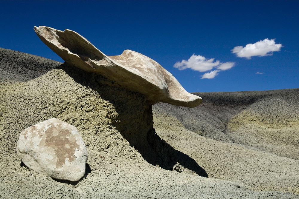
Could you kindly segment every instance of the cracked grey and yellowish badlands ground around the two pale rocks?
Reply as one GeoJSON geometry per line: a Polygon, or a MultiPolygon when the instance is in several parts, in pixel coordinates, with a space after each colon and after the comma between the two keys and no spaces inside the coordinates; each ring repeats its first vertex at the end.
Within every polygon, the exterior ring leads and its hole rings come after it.
{"type": "Polygon", "coordinates": [[[195,108],[71,65],[0,48],[0,198],[299,198],[299,90],[194,93],[195,108]],[[88,151],[78,182],[16,154],[20,132],[58,118],[88,151]]]}

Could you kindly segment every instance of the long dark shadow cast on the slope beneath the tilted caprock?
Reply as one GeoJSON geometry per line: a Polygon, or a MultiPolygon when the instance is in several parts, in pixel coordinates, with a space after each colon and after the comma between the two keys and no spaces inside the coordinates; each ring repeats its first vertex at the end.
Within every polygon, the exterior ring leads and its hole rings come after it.
{"type": "Polygon", "coordinates": [[[175,150],[156,134],[152,126],[152,104],[142,94],[126,90],[101,75],[65,63],[61,68],[74,81],[93,89],[102,99],[113,104],[118,119],[112,121],[112,126],[129,142],[130,146],[141,153],[148,163],[177,172],[188,169],[188,173],[195,172],[199,176],[208,177],[206,171],[194,159],[175,150]]]}

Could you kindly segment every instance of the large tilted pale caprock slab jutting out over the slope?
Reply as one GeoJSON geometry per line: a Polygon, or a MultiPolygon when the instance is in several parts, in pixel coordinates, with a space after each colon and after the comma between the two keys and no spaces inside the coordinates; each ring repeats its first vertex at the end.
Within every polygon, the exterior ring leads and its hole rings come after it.
{"type": "Polygon", "coordinates": [[[34,27],[34,30],[65,62],[139,92],[152,104],[165,102],[196,107],[202,102],[202,98],[184,90],[170,72],[145,55],[125,50],[121,55],[107,56],[72,30],[60,31],[45,26],[34,27]]]}

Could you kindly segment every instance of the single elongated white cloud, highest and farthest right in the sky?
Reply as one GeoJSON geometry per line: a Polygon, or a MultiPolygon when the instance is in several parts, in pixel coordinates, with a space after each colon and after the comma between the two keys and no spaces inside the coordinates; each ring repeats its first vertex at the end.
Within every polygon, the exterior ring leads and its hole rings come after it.
{"type": "Polygon", "coordinates": [[[232,53],[236,53],[237,57],[246,57],[250,59],[252,56],[267,56],[272,55],[274,51],[279,51],[282,44],[275,44],[275,39],[260,40],[254,44],[247,44],[245,47],[236,46],[232,53]]]}

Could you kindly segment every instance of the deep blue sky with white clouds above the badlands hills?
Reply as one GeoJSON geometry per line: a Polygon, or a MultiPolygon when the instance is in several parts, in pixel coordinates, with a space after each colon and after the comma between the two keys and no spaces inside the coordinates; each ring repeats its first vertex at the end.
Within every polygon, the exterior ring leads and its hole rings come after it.
{"type": "Polygon", "coordinates": [[[106,55],[154,59],[188,92],[299,88],[298,9],[299,1],[2,0],[0,47],[62,61],[33,27],[70,29],[106,55]]]}

